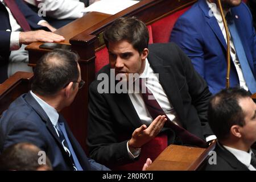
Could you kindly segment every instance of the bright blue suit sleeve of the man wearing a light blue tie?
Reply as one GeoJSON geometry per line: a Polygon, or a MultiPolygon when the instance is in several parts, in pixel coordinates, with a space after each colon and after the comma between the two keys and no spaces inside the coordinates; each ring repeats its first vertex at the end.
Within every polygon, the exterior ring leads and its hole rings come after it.
{"type": "Polygon", "coordinates": [[[175,42],[185,52],[196,71],[204,78],[204,46],[195,26],[187,19],[179,18],[171,32],[170,42],[175,42]]]}

